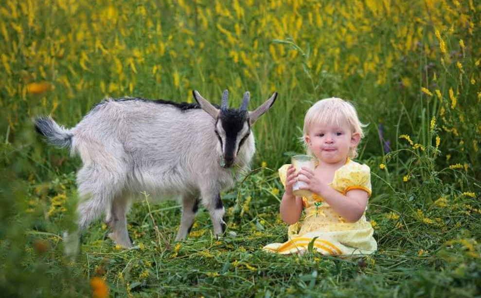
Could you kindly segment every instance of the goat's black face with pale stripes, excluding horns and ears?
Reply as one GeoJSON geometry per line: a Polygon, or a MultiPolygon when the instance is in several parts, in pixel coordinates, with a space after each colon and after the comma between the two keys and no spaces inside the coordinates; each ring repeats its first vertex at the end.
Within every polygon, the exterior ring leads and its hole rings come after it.
{"type": "MultiPolygon", "coordinates": [[[[247,111],[226,109],[221,110],[219,113],[218,121],[220,121],[222,129],[225,132],[225,146],[222,148],[226,168],[232,166],[237,152],[239,152],[240,147],[244,143],[245,139],[249,136],[250,126],[247,131],[243,131],[244,125],[246,123],[249,125],[248,120],[247,111]]],[[[221,138],[221,146],[222,145],[221,138]]]]}

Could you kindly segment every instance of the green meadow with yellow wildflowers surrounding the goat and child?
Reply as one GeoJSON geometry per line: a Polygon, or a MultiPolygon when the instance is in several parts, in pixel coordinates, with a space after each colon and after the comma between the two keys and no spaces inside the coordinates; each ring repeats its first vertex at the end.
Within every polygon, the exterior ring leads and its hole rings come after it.
{"type": "MultiPolygon", "coordinates": [[[[481,3],[476,0],[2,0],[0,292],[5,297],[481,296],[481,3]],[[174,242],[180,205],[136,203],[133,249],[94,223],[75,258],[78,157],[36,134],[74,126],[105,97],[250,108],[252,171],[223,193],[228,229],[200,209],[174,242]],[[303,152],[304,112],[341,97],[369,124],[367,217],[379,250],[356,259],[277,256],[277,168],[303,152]],[[155,227],[158,228],[155,228],[155,227]]],[[[149,194],[144,193],[144,197],[149,194]]]]}

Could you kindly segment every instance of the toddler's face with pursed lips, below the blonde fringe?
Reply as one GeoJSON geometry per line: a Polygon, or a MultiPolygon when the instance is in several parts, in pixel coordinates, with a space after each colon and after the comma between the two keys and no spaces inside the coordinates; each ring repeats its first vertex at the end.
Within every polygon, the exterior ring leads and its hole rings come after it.
{"type": "Polygon", "coordinates": [[[323,163],[343,163],[349,155],[349,149],[359,143],[359,133],[353,133],[346,123],[338,125],[312,125],[305,136],[311,152],[323,163]]]}

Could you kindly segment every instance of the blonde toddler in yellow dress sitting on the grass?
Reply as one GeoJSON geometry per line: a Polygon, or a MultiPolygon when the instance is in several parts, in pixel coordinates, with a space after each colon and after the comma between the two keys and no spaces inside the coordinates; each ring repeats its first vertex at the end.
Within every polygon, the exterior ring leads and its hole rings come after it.
{"type": "Polygon", "coordinates": [[[316,168],[302,168],[299,173],[292,165],[279,169],[285,187],[280,213],[291,224],[289,241],[268,244],[264,250],[302,254],[311,242],[323,255],[372,254],[377,249],[373,227],[365,217],[370,169],[351,160],[357,156],[363,126],[355,108],[339,98],[320,100],[307,111],[303,141],[307,153],[317,159],[316,168]],[[294,196],[296,181],[305,182],[301,189],[312,195],[294,196]]]}

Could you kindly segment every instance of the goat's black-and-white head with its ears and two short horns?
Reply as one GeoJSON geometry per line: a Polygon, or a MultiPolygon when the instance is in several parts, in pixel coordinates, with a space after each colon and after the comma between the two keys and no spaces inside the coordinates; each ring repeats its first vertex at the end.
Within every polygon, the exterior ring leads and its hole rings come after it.
{"type": "Polygon", "coordinates": [[[244,93],[244,98],[239,109],[230,109],[228,107],[229,92],[227,89],[224,90],[222,94],[220,109],[203,98],[196,90],[194,90],[193,93],[200,108],[215,120],[214,131],[219,139],[220,148],[222,149],[224,168],[229,168],[234,164],[239,149],[241,149],[251,133],[250,127],[262,114],[269,110],[277,97],[277,92],[274,92],[274,94],[257,109],[248,111],[249,92],[244,93]]]}

